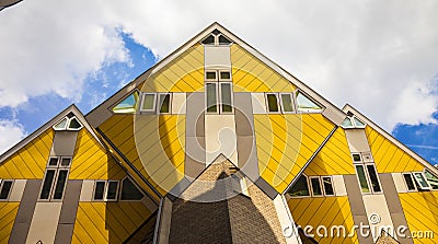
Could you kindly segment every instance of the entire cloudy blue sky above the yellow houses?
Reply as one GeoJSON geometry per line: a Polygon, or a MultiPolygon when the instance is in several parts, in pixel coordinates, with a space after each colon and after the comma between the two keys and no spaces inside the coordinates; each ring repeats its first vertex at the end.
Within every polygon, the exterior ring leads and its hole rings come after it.
{"type": "Polygon", "coordinates": [[[438,1],[24,0],[0,11],[0,153],[214,22],[438,164],[438,1]]]}

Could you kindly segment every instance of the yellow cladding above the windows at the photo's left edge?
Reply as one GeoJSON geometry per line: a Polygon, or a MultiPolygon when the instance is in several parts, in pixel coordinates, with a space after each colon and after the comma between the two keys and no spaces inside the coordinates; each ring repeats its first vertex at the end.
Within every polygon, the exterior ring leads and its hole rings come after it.
{"type": "Polygon", "coordinates": [[[0,163],[0,178],[43,178],[50,154],[54,131],[41,133],[0,163]]]}

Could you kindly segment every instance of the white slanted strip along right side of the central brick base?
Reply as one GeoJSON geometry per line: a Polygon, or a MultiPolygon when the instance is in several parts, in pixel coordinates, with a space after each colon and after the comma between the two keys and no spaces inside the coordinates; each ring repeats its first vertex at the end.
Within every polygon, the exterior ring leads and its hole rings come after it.
{"type": "Polygon", "coordinates": [[[287,244],[301,244],[301,240],[298,235],[296,223],[290,213],[289,207],[286,204],[285,196],[278,194],[274,199],[275,210],[277,211],[278,220],[280,221],[281,231],[286,239],[287,244]]]}

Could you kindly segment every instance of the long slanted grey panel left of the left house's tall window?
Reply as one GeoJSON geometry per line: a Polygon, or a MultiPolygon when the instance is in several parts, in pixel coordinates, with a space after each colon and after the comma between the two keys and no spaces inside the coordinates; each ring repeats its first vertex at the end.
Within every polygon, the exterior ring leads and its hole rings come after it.
{"type": "Polygon", "coordinates": [[[24,243],[38,199],[42,179],[27,179],[9,243],[24,243]]]}

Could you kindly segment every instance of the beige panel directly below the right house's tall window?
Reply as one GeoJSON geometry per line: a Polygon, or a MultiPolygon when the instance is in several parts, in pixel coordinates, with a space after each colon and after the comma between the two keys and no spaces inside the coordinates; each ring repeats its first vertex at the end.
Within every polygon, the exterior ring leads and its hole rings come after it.
{"type": "MultiPolygon", "coordinates": [[[[394,230],[394,224],[392,223],[390,210],[388,209],[387,199],[384,198],[383,194],[364,195],[362,198],[371,229],[371,234],[376,242],[380,235],[379,230],[381,230],[381,228],[392,228],[392,230],[394,230]],[[378,214],[380,222],[372,223],[370,220],[372,214],[378,214]]],[[[393,233],[390,234],[393,235],[393,233]]]]}

